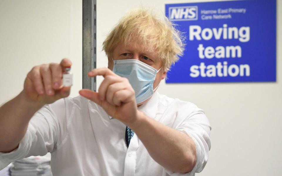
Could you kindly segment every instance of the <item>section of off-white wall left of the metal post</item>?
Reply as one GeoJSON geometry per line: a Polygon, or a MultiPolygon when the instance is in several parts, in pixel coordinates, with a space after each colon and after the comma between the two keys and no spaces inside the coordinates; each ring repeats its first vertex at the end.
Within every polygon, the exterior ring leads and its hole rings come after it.
{"type": "Polygon", "coordinates": [[[23,89],[35,65],[71,58],[71,96],[82,87],[82,3],[80,1],[0,1],[0,104],[23,89]]]}

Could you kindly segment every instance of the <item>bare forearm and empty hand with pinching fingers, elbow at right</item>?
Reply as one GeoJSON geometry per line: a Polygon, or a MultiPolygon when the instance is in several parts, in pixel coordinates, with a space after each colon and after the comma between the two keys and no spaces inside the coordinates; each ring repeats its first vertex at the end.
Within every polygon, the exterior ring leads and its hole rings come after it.
{"type": "Polygon", "coordinates": [[[89,77],[97,75],[105,78],[98,93],[83,89],[80,95],[94,101],[110,116],[129,126],[150,156],[163,167],[182,173],[193,169],[197,153],[191,138],[138,111],[135,92],[126,78],[108,68],[94,69],[88,73],[89,77]]]}

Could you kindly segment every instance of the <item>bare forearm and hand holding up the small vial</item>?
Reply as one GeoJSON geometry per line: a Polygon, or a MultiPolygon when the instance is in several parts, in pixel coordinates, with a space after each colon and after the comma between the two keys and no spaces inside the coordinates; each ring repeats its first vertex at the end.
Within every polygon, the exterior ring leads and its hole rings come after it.
{"type": "Polygon", "coordinates": [[[0,107],[0,152],[11,152],[19,146],[38,109],[70,94],[70,87],[62,85],[63,67],[70,65],[70,60],[63,59],[61,64],[33,67],[26,76],[24,90],[0,107]]]}

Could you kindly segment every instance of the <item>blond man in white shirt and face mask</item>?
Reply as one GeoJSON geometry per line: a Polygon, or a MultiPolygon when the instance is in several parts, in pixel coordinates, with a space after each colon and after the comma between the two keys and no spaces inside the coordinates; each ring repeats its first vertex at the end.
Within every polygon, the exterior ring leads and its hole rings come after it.
{"type": "Polygon", "coordinates": [[[207,163],[210,126],[192,103],[155,90],[182,55],[182,37],[144,9],[124,16],[103,43],[98,92],[73,99],[63,59],[33,67],[24,90],[0,108],[0,168],[51,152],[53,175],[194,175],[207,163]],[[85,97],[85,98],[84,98],[85,97]],[[64,98],[64,99],[62,99],[64,98]],[[58,100],[58,101],[57,101],[58,100]],[[49,105],[46,105],[49,104],[49,105]]]}

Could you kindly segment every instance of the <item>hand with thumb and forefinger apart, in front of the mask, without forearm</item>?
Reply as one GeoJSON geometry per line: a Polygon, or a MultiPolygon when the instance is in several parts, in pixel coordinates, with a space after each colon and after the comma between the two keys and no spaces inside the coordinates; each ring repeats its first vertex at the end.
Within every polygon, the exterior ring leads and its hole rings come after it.
{"type": "Polygon", "coordinates": [[[128,79],[116,75],[108,68],[94,69],[88,73],[89,77],[98,75],[105,78],[99,87],[98,93],[89,89],[82,89],[79,91],[80,95],[94,101],[110,116],[125,124],[136,121],[135,92],[128,79]]]}

